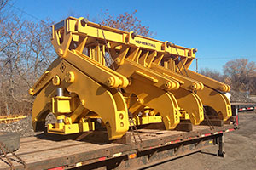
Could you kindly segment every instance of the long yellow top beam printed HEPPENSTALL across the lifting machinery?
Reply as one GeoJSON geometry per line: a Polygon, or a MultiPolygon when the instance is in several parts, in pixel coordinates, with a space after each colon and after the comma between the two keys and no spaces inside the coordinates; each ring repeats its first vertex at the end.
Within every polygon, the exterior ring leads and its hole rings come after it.
{"type": "Polygon", "coordinates": [[[104,40],[102,30],[105,38],[108,39],[109,42],[119,43],[120,45],[129,45],[131,47],[145,48],[160,53],[195,58],[194,48],[183,48],[181,46],[173,45],[172,43],[161,42],[153,38],[136,35],[132,31],[120,31],[108,26],[100,26],[92,22],[84,22],[84,18],[76,19],[69,17],[52,26],[52,41],[56,52],[60,56],[65,56],[67,53],[67,44],[73,37],[71,34],[82,37],[88,36],[89,39],[92,37],[104,40]],[[66,40],[61,43],[61,36],[65,36],[64,34],[67,34],[68,38],[65,38],[66,40]],[[61,49],[61,51],[59,49],[61,49]]]}

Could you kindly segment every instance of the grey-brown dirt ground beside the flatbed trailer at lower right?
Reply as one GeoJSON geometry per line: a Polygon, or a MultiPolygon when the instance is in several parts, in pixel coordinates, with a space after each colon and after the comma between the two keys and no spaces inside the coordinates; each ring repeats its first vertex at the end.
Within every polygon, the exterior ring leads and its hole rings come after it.
{"type": "Polygon", "coordinates": [[[239,123],[240,129],[224,134],[224,158],[216,156],[218,146],[213,146],[147,169],[256,169],[256,111],[241,112],[239,123]]]}

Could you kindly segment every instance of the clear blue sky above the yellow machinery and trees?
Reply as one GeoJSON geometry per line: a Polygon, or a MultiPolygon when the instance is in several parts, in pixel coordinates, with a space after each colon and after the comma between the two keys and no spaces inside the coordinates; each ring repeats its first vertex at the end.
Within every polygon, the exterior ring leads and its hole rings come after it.
{"type": "MultiPolygon", "coordinates": [[[[102,9],[109,14],[137,10],[138,20],[156,32],[155,39],[198,48],[199,69],[222,71],[227,61],[239,58],[256,62],[256,0],[12,0],[10,4],[40,20],[56,22],[68,14],[100,20],[102,9]]],[[[190,69],[195,70],[195,61],[190,69]]]]}

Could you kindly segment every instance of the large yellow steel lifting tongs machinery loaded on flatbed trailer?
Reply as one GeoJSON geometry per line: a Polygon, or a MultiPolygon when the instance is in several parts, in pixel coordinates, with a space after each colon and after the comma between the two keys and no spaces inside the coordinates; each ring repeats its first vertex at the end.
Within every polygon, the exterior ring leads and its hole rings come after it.
{"type": "Polygon", "coordinates": [[[94,130],[101,119],[110,140],[121,138],[131,125],[200,125],[204,107],[218,120],[232,115],[224,95],[230,86],[189,70],[195,48],[73,17],[52,26],[51,42],[58,58],[29,90],[37,96],[36,131],[44,128],[49,112],[57,118],[49,133],[94,130]]]}

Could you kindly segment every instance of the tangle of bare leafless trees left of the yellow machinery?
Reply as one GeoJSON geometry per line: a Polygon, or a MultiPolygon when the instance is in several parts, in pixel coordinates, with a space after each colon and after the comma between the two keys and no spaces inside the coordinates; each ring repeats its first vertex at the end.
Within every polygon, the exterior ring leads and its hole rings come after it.
{"type": "Polygon", "coordinates": [[[49,20],[35,23],[13,15],[0,27],[1,114],[28,114],[32,97],[27,90],[37,81],[55,52],[50,43],[49,20]]]}

